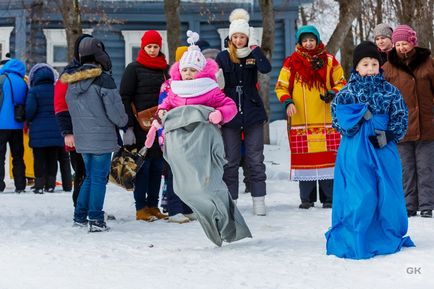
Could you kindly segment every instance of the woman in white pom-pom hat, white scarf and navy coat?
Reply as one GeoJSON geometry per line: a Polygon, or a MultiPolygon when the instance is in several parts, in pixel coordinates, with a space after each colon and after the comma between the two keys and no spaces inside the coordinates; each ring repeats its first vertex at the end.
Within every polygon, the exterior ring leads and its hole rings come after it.
{"type": "Polygon", "coordinates": [[[222,127],[226,159],[223,180],[232,198],[238,199],[238,168],[241,159],[242,134],[246,147],[246,161],[250,170],[253,213],[264,216],[266,174],[264,164],[263,127],[267,121],[264,103],[258,93],[258,71],[269,73],[271,64],[258,46],[249,13],[235,9],[229,16],[228,48],[217,55],[216,62],[223,70],[224,93],[232,98],[238,109],[233,120],[222,127]]]}

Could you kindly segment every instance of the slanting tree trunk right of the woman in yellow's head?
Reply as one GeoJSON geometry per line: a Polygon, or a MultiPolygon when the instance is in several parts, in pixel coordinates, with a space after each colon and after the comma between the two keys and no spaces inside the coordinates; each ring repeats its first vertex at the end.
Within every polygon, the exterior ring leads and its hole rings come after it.
{"type": "Polygon", "coordinates": [[[361,10],[361,1],[351,1],[351,0],[335,0],[339,3],[339,22],[327,43],[327,50],[336,54],[340,47],[346,47],[342,44],[344,43],[345,37],[348,31],[352,27],[354,19],[361,10]]]}

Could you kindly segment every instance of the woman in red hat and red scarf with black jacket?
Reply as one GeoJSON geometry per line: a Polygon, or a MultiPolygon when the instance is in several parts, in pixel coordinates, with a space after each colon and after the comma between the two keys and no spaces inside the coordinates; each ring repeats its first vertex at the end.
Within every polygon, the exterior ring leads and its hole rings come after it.
{"type": "MultiPolygon", "coordinates": [[[[132,104],[137,112],[158,105],[160,87],[168,78],[168,65],[161,46],[161,35],[155,30],[146,31],[136,61],[128,64],[121,80],[120,94],[128,114],[128,129],[123,141],[124,145],[138,150],[144,146],[147,131],[137,122],[132,104]]],[[[137,220],[152,222],[167,218],[158,208],[162,168],[163,155],[158,141],[155,141],[136,175],[134,199],[137,220]]]]}

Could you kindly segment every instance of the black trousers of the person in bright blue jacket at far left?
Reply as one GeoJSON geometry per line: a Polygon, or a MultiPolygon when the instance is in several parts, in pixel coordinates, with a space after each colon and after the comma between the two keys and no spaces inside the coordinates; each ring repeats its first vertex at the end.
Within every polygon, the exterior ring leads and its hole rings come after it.
{"type": "Polygon", "coordinates": [[[0,192],[5,189],[5,160],[6,160],[6,144],[9,143],[9,148],[12,154],[12,173],[14,175],[14,183],[16,190],[24,190],[26,188],[26,166],[24,164],[24,144],[23,130],[11,129],[0,130],[0,192]]]}

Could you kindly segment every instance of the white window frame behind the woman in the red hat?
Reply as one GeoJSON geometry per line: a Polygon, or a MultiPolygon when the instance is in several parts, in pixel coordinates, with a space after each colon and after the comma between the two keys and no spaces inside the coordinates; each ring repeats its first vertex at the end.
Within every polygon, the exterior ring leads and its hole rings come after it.
{"type": "MultiPolygon", "coordinates": [[[[148,30],[122,30],[122,36],[125,41],[125,66],[136,60],[137,55],[132,55],[133,47],[139,47],[141,44],[141,39],[143,33],[148,30]]],[[[156,30],[160,33],[163,39],[163,44],[161,47],[161,52],[166,56],[166,61],[169,62],[169,48],[165,43],[167,43],[167,30],[156,30]]]]}

